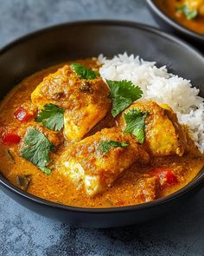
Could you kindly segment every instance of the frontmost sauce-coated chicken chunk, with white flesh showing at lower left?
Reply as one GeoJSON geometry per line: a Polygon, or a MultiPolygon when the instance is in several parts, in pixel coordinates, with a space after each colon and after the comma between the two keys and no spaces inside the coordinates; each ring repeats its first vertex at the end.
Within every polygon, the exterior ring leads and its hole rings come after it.
{"type": "Polygon", "coordinates": [[[66,148],[56,168],[91,196],[111,187],[134,162],[147,164],[149,161],[149,154],[132,140],[131,135],[123,135],[118,128],[105,128],[66,148]],[[103,151],[101,141],[123,142],[123,147],[110,146],[103,151]]]}

